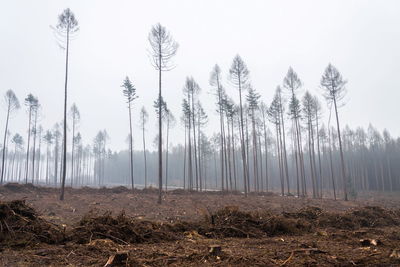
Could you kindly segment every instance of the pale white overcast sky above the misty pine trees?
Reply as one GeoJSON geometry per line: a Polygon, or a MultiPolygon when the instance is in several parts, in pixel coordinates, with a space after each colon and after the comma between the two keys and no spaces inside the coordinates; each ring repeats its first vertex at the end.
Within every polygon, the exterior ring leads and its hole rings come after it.
{"type": "MultiPolygon", "coordinates": [[[[218,131],[209,76],[218,63],[227,93],[238,100],[238,91],[228,81],[236,54],[267,104],[292,66],[303,82],[299,97],[306,90],[320,96],[325,122],[328,112],[319,82],[332,63],[348,80],[345,105],[339,110],[341,125],[366,128],[372,123],[400,136],[400,1],[1,0],[0,95],[12,89],[19,98],[21,109],[13,115],[10,131],[25,140],[27,94],[41,103],[44,130],[62,120],[65,51],[50,26],[68,7],[80,27],[70,46],[68,107],[76,103],[80,110],[78,130],[84,143],[91,144],[96,133],[106,129],[109,148],[127,148],[128,109],[121,85],[129,76],[139,96],[133,104],[134,146],[141,149],[142,106],[150,115],[146,138],[152,144],[158,74],[149,59],[148,34],[158,22],[179,43],[175,68],[163,74],[163,97],[178,119],[171,131],[173,144],[184,140],[179,117],[187,76],[202,89],[200,100],[209,116],[205,131],[218,131]]],[[[0,110],[3,136],[3,102],[0,110]]]]}

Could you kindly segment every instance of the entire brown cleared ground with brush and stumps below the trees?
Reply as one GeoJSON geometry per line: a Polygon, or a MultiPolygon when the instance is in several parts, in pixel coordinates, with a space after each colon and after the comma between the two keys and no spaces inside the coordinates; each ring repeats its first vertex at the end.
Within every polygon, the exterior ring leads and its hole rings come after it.
{"type": "Polygon", "coordinates": [[[0,187],[1,266],[400,266],[400,196],[0,187]],[[114,257],[114,260],[110,259],[114,257]]]}

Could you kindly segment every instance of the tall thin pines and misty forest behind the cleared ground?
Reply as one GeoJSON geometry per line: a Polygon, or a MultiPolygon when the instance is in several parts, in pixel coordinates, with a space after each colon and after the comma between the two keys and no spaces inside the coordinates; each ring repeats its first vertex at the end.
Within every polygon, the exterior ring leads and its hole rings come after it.
{"type": "Polygon", "coordinates": [[[245,61],[236,55],[227,73],[217,64],[208,70],[209,84],[203,86],[214,94],[213,99],[209,96],[215,102],[214,112],[207,114],[203,109],[199,100],[202,89],[188,76],[182,85],[182,111],[172,114],[162,98],[161,73],[173,71],[172,60],[179,45],[161,24],[154,25],[148,37],[161,101],[132,114],[140,88],[126,77],[120,93],[126,98],[121,105],[127,105],[129,115],[127,149],[107,148],[106,125],[92,140],[82,140],[79,108],[76,104],[67,106],[68,45],[70,35],[79,30],[78,21],[66,9],[52,29],[66,49],[64,120],[43,129],[39,122],[42,107],[34,92],[25,97],[17,97],[11,89],[4,93],[1,184],[61,188],[129,185],[165,190],[170,186],[244,194],[279,191],[281,195],[335,199],[355,198],[357,192],[399,190],[396,162],[400,159],[400,139],[387,130],[379,132],[373,125],[367,129],[340,127],[339,108],[344,104],[347,80],[331,64],[321,70],[318,95],[302,90],[301,78],[289,67],[282,84],[268,89],[275,90],[273,99],[262,99],[252,86],[245,61]],[[227,94],[227,87],[237,91],[238,103],[227,94]],[[14,133],[12,115],[20,108],[27,112],[27,130],[14,133]],[[146,130],[148,112],[159,118],[159,132],[153,137],[146,130]],[[203,129],[210,120],[217,120],[220,127],[206,133],[203,129]],[[143,137],[141,147],[135,150],[132,127],[143,137]],[[185,140],[171,146],[173,127],[184,131],[185,140]]]}

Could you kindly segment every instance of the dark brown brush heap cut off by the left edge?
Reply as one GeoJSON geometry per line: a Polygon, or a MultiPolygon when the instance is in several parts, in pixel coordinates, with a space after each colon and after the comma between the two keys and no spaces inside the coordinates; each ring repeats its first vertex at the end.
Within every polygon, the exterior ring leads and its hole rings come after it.
{"type": "Polygon", "coordinates": [[[41,219],[25,201],[0,202],[0,247],[54,244],[62,239],[62,228],[41,219]]]}

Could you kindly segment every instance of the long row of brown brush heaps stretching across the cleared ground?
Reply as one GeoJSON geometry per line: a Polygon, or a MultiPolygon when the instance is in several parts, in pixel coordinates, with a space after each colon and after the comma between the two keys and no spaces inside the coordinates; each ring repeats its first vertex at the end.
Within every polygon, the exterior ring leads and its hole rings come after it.
{"type": "MultiPolygon", "coordinates": [[[[124,189],[125,190],[125,189],[124,189]]],[[[59,244],[66,241],[87,244],[96,239],[110,239],[118,244],[159,243],[180,240],[185,233],[208,238],[260,238],[297,235],[317,228],[358,229],[400,224],[400,212],[380,207],[365,207],[345,213],[325,213],[317,207],[280,215],[269,212],[244,212],[225,207],[209,213],[197,222],[174,224],[147,221],[127,216],[88,213],[67,231],[38,216],[24,201],[0,202],[0,245],[27,246],[35,242],[59,244]]]]}

